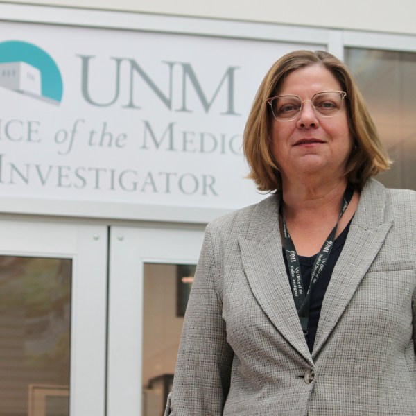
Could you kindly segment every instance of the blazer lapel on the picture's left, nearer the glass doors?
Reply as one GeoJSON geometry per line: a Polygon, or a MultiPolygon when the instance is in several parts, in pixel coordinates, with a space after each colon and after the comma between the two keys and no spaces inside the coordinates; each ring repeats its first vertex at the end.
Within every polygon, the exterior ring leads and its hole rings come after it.
{"type": "Polygon", "coordinates": [[[258,205],[239,244],[248,283],[261,308],[288,343],[312,363],[284,266],[277,196],[258,205]]]}

